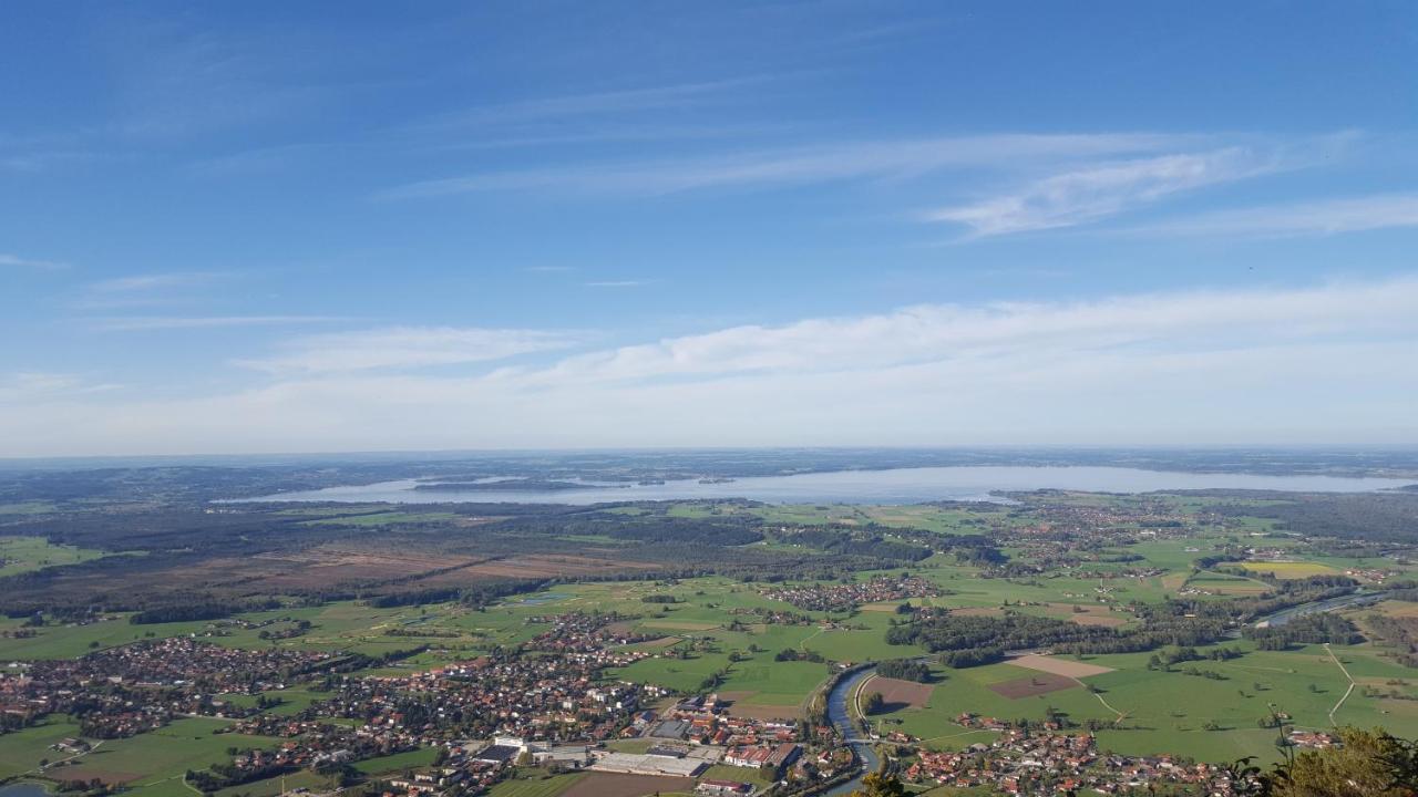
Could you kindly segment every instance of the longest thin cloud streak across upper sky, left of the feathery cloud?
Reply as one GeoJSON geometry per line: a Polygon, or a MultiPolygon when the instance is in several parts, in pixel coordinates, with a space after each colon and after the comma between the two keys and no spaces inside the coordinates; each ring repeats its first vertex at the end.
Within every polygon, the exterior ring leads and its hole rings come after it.
{"type": "Polygon", "coordinates": [[[417,199],[496,190],[668,194],[835,180],[913,177],[940,169],[1018,169],[1069,159],[1119,157],[1194,146],[1198,136],[1160,133],[991,135],[862,140],[743,155],[484,172],[421,180],[377,194],[417,199]]]}

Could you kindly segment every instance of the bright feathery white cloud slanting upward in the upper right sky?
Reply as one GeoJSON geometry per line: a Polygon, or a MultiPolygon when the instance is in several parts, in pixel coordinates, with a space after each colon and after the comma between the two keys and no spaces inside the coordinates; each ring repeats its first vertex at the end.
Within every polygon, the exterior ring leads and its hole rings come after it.
{"type": "Polygon", "coordinates": [[[1255,177],[1279,167],[1249,149],[1119,160],[1054,174],[1017,193],[934,210],[930,221],[971,228],[973,237],[1008,235],[1099,221],[1166,196],[1255,177]]]}

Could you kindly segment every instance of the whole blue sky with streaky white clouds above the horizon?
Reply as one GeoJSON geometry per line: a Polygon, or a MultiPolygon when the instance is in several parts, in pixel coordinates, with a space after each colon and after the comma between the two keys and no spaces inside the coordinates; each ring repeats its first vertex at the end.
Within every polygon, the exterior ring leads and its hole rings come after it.
{"type": "Polygon", "coordinates": [[[1418,444],[1418,4],[0,4],[0,457],[1418,444]]]}

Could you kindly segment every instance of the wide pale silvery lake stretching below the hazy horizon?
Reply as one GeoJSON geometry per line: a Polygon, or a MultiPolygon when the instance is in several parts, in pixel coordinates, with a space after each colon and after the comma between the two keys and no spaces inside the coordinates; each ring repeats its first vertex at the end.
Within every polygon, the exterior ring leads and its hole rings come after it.
{"type": "Polygon", "coordinates": [[[647,485],[598,485],[527,491],[415,491],[401,479],[369,485],[282,492],[259,501],[335,501],[346,503],[603,503],[610,501],[682,501],[747,498],[767,503],[919,503],[923,501],[1000,501],[995,491],[1076,489],[1154,492],[1173,489],[1272,489],[1286,492],[1373,492],[1412,484],[1404,479],[1314,475],[1187,474],[1093,467],[954,467],[834,471],[788,476],[746,476],[705,484],[695,479],[647,485]]]}

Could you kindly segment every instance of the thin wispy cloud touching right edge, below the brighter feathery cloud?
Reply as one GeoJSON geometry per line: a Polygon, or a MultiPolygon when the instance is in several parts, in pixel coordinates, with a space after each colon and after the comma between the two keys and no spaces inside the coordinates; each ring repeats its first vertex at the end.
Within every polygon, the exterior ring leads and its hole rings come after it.
{"type": "Polygon", "coordinates": [[[1374,194],[1187,216],[1127,234],[1285,238],[1418,227],[1418,194],[1374,194]]]}

